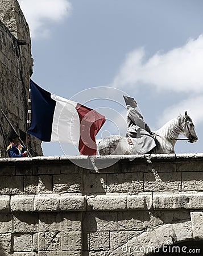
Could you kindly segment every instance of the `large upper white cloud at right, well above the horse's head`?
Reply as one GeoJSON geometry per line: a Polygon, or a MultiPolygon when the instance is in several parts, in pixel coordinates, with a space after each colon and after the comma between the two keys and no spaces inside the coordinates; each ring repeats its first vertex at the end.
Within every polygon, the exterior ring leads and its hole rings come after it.
{"type": "Polygon", "coordinates": [[[203,92],[202,35],[196,40],[190,39],[183,47],[158,52],[147,61],[144,58],[144,48],[130,52],[112,85],[136,89],[144,83],[161,91],[203,92]]]}

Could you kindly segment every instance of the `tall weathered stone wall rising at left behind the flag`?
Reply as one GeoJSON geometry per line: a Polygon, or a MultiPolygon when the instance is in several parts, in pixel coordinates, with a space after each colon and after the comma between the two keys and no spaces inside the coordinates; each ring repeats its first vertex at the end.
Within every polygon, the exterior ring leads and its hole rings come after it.
{"type": "MultiPolygon", "coordinates": [[[[32,65],[29,27],[18,1],[0,0],[0,108],[17,131],[26,131],[32,65]]],[[[6,156],[11,129],[1,112],[0,116],[0,152],[6,156]]],[[[32,138],[31,148],[32,155],[42,155],[39,140],[32,138]]]]}

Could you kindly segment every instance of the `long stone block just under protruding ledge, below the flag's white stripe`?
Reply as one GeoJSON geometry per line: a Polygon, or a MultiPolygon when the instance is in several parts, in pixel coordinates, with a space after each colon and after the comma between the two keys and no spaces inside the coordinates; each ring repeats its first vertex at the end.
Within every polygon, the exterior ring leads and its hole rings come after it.
{"type": "Polygon", "coordinates": [[[81,213],[39,213],[40,232],[81,231],[81,213]]]}

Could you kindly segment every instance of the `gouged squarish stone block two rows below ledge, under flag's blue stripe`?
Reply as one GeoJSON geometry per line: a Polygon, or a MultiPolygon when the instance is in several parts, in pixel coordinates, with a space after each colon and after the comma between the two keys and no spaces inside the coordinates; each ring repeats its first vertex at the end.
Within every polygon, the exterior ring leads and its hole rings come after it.
{"type": "Polygon", "coordinates": [[[61,251],[61,233],[39,232],[40,251],[61,251]]]}

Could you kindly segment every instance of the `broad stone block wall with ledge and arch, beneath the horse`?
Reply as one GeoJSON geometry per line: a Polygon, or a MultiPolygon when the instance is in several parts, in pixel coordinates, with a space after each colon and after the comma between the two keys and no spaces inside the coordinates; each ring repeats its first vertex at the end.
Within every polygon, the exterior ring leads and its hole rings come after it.
{"type": "Polygon", "coordinates": [[[0,255],[145,255],[203,239],[203,154],[2,158],[0,176],[0,255]]]}

